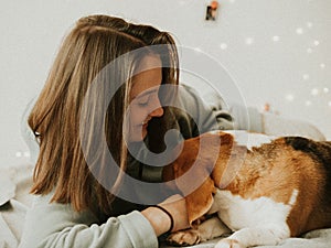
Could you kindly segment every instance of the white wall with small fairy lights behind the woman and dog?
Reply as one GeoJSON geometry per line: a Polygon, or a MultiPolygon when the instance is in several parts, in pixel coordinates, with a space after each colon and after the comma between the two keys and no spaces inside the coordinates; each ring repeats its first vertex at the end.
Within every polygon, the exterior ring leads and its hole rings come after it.
{"type": "Polygon", "coordinates": [[[217,20],[206,22],[206,0],[2,1],[0,166],[28,161],[20,136],[24,107],[42,88],[65,32],[92,13],[170,31],[180,45],[224,65],[247,105],[269,103],[285,117],[314,123],[331,139],[331,1],[218,2],[217,20]]]}

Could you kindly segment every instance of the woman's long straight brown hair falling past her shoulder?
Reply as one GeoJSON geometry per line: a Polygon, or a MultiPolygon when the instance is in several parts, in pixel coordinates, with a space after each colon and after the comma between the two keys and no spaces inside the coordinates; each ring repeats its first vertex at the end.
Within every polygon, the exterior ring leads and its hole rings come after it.
{"type": "MultiPolygon", "coordinates": [[[[88,88],[103,68],[122,54],[152,44],[171,45],[166,55],[162,53],[161,56],[164,63],[171,65],[162,68],[162,84],[178,84],[177,50],[168,33],[152,26],[129,24],[107,15],[89,15],[77,21],[60,47],[45,86],[28,120],[40,142],[32,193],[47,194],[54,191],[52,201],[71,203],[75,211],[89,208],[111,213],[115,196],[93,175],[86,162],[86,154],[82,150],[82,115],[87,123],[94,118],[94,114],[83,111],[82,106],[88,88]]],[[[129,78],[137,63],[137,57],[129,56],[114,69],[116,73],[113,74],[116,75],[113,76],[116,80],[127,84],[119,87],[107,106],[106,120],[103,122],[105,127],[102,127],[109,150],[122,171],[126,170],[127,150],[121,128],[129,104],[129,78]]],[[[100,84],[104,88],[93,93],[93,100],[88,103],[90,109],[104,111],[95,106],[99,99],[107,97],[109,90],[116,89],[111,84],[114,83],[100,84]]],[[[160,121],[164,120],[167,118],[160,121]]],[[[85,125],[85,128],[88,130],[85,129],[87,142],[84,145],[87,145],[87,150],[89,149],[90,153],[95,152],[96,158],[102,158],[105,148],[99,148],[95,142],[89,143],[89,140],[94,139],[92,136],[96,131],[100,132],[100,127],[85,125]]],[[[100,165],[103,166],[106,164],[100,165]]],[[[113,176],[117,177],[116,182],[120,182],[119,174],[113,176]]]]}

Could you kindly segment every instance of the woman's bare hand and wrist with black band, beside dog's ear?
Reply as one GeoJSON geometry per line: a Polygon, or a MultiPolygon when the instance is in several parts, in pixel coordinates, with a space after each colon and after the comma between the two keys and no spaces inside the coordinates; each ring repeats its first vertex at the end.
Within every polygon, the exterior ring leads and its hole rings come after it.
{"type": "MultiPolygon", "coordinates": [[[[190,227],[185,198],[181,195],[170,196],[160,206],[167,209],[173,218],[173,228],[171,231],[190,227]]],[[[150,222],[157,236],[164,234],[171,227],[171,218],[162,209],[151,206],[141,213],[150,222]]]]}

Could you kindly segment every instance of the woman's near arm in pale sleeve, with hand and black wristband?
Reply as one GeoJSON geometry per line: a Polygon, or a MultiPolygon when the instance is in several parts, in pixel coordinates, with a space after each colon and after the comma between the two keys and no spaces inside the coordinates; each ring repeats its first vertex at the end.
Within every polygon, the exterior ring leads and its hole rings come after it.
{"type": "MultiPolygon", "coordinates": [[[[49,203],[50,198],[51,194],[34,198],[19,248],[157,248],[158,236],[171,227],[169,215],[157,207],[110,217],[98,225],[92,212],[77,213],[70,204],[49,203]]],[[[189,227],[183,197],[173,195],[160,205],[172,216],[172,231],[189,227]]]]}

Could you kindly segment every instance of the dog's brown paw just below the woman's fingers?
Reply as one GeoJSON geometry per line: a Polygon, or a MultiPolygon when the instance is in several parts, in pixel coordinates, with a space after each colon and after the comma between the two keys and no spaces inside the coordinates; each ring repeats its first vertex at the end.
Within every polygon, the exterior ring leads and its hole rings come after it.
{"type": "Polygon", "coordinates": [[[201,241],[201,236],[194,229],[179,230],[169,235],[167,241],[175,246],[192,246],[201,241]]]}

